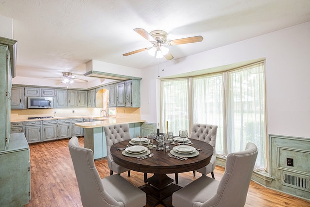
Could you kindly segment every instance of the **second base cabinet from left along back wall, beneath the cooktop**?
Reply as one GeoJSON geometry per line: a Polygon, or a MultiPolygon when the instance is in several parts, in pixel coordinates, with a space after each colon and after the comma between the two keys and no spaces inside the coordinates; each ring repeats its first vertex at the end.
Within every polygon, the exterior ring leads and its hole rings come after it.
{"type": "Polygon", "coordinates": [[[26,140],[28,143],[42,142],[42,121],[25,122],[26,140]]]}

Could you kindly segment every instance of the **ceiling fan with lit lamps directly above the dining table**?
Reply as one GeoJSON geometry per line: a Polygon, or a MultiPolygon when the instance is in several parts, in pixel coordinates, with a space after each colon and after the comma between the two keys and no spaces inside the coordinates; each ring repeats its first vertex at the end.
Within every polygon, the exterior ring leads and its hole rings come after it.
{"type": "Polygon", "coordinates": [[[162,30],[154,30],[148,33],[144,29],[136,28],[134,29],[134,31],[140,34],[142,37],[144,37],[149,42],[151,42],[153,46],[150,48],[142,48],[142,49],[138,49],[135,51],[127,52],[123,54],[124,56],[132,55],[138,52],[148,50],[148,53],[153,57],[156,57],[156,58],[165,57],[167,60],[172,60],[173,56],[169,52],[169,48],[164,47],[164,45],[169,45],[169,46],[181,45],[181,44],[187,44],[187,43],[201,42],[203,40],[202,36],[195,36],[195,37],[187,37],[187,38],[167,41],[168,34],[167,32],[162,31],[162,30]]]}

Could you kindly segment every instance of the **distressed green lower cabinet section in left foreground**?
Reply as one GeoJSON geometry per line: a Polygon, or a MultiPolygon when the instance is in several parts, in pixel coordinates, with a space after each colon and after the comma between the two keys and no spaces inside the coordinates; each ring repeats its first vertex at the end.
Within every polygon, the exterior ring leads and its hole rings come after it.
{"type": "Polygon", "coordinates": [[[30,200],[30,150],[24,133],[11,134],[0,152],[0,206],[22,207],[30,200]]]}

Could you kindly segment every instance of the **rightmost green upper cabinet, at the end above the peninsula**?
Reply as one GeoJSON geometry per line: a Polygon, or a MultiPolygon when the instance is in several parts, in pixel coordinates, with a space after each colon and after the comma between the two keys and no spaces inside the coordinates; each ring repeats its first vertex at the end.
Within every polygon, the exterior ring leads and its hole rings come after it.
{"type": "Polygon", "coordinates": [[[140,101],[140,80],[127,80],[125,89],[125,106],[139,108],[140,101]]]}

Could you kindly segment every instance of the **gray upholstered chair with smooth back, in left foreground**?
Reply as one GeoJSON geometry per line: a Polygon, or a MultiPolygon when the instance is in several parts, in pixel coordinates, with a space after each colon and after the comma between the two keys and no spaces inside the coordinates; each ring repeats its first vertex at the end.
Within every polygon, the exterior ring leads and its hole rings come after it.
{"type": "Polygon", "coordinates": [[[93,161],[93,151],[80,147],[78,138],[69,141],[69,151],[84,207],[142,207],[146,194],[120,175],[100,178],[93,161]]]}

